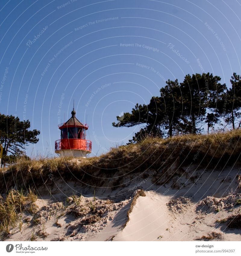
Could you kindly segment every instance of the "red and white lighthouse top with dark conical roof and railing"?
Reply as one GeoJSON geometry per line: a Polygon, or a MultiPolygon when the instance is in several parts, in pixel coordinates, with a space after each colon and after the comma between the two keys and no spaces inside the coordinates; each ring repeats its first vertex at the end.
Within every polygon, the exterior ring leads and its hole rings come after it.
{"type": "Polygon", "coordinates": [[[61,139],[55,141],[55,153],[61,156],[84,157],[91,153],[91,141],[86,140],[86,130],[89,125],[82,124],[76,118],[76,111],[72,110],[70,119],[58,125],[61,139]]]}

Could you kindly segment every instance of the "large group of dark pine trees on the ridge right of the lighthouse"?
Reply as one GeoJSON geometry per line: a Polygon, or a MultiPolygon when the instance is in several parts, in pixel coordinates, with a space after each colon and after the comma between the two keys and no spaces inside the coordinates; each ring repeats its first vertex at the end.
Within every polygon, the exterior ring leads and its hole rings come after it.
{"type": "Polygon", "coordinates": [[[131,113],[117,116],[114,127],[132,127],[142,124],[130,142],[146,136],[171,137],[177,134],[207,132],[219,123],[232,122],[233,129],[241,125],[241,77],[233,73],[232,87],[221,84],[221,77],[210,73],[187,74],[183,82],[166,81],[160,96],[153,96],[148,105],[136,104],[131,113]],[[224,111],[225,109],[225,111],[224,111]],[[235,123],[236,122],[236,123],[235,123]]]}

